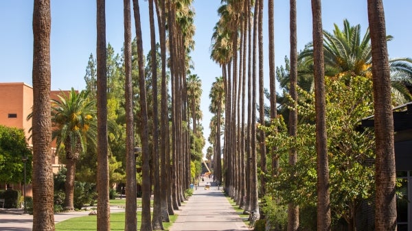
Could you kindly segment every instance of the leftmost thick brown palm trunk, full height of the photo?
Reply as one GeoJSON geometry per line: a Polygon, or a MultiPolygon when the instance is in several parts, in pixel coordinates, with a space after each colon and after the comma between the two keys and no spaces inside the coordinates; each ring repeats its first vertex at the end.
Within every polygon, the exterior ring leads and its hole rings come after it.
{"type": "Polygon", "coordinates": [[[33,230],[54,230],[53,171],[50,161],[50,1],[33,8],[33,230]]]}

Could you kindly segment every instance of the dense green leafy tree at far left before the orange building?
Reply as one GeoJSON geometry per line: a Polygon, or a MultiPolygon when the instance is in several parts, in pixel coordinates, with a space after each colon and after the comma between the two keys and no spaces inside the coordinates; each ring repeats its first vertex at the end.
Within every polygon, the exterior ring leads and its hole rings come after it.
{"type": "Polygon", "coordinates": [[[32,178],[32,151],[27,147],[23,130],[0,125],[0,182],[19,183],[24,180],[24,162],[27,156],[26,180],[32,178]]]}

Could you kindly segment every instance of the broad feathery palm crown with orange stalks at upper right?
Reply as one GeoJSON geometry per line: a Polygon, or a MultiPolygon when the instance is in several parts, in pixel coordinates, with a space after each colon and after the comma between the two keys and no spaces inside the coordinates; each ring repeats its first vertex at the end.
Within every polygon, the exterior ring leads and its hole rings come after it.
{"type": "MultiPolygon", "coordinates": [[[[334,24],[333,33],[323,31],[325,67],[328,75],[360,75],[371,76],[371,36],[369,29],[361,38],[361,25],[351,26],[349,21],[343,21],[343,30],[334,24]]],[[[386,36],[387,41],[392,36],[386,36]]],[[[309,44],[299,54],[299,59],[305,62],[313,61],[313,48],[309,44]]],[[[396,101],[402,104],[412,99],[407,86],[412,82],[412,60],[409,58],[396,58],[389,60],[391,69],[392,91],[396,101]]]]}

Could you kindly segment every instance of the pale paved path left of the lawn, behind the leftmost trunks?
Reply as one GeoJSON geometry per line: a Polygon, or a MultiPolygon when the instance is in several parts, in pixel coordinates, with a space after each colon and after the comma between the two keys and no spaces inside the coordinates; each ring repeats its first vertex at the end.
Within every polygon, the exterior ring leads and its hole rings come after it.
{"type": "MultiPolygon", "coordinates": [[[[111,206],[111,212],[123,212],[124,208],[111,206]]],[[[91,211],[60,212],[54,214],[54,223],[64,221],[73,217],[89,215],[91,211]]],[[[0,231],[29,231],[33,227],[33,215],[23,215],[21,208],[0,208],[0,231]]]]}

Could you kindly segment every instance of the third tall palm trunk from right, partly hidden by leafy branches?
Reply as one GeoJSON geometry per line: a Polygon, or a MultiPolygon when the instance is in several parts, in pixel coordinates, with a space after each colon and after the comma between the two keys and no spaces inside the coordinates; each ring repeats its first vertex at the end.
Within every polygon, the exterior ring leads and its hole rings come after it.
{"type": "MultiPolygon", "coordinates": [[[[289,135],[297,137],[297,26],[296,0],[290,0],[290,97],[293,100],[292,110],[289,113],[289,135]]],[[[271,108],[272,110],[272,108],[271,108]]],[[[276,110],[275,110],[276,111],[276,110]]],[[[289,151],[289,165],[296,165],[297,150],[293,147],[289,151]]],[[[299,228],[299,206],[288,204],[288,230],[296,231],[299,228]]]]}

